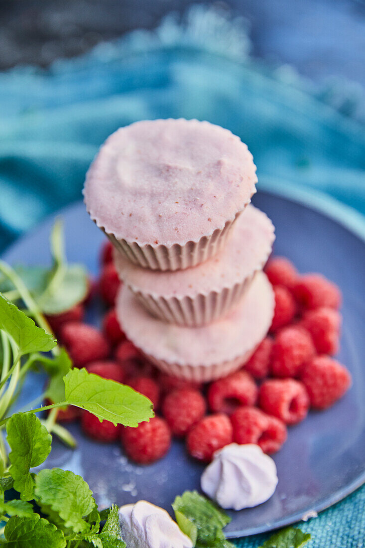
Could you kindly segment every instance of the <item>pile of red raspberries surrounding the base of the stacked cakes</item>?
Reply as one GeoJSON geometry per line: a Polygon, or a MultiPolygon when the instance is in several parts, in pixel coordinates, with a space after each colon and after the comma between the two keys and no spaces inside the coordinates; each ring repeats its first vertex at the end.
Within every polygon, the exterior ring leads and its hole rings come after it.
{"type": "Polygon", "coordinates": [[[194,384],[159,372],[119,327],[113,308],[119,289],[112,246],[104,244],[101,275],[84,304],[48,317],[74,367],[132,386],[149,397],[156,416],[138,428],[102,423],[78,408],[61,410],[60,421],[81,419],[85,435],[119,440],[136,463],[149,464],[169,450],[172,437],[185,438],[187,452],[209,462],[229,443],[255,443],[277,452],[288,427],[310,409],[327,409],[351,385],[349,371],[333,358],[339,348],[341,293],[320,274],[299,275],[285,258],[272,258],[265,272],[275,293],[270,333],[242,369],[209,384],[194,384]],[[99,330],[83,322],[90,299],[107,310],[99,330]]]}

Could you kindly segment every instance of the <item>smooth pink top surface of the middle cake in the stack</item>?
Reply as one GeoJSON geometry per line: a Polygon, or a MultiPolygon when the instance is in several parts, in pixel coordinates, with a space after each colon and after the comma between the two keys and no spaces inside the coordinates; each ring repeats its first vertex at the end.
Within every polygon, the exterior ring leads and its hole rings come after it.
{"type": "Polygon", "coordinates": [[[177,270],[173,275],[147,270],[130,262],[117,250],[114,252],[114,262],[119,276],[134,292],[165,298],[193,297],[231,288],[262,269],[271,253],[274,238],[270,219],[249,205],[233,224],[220,252],[191,269],[177,270]]]}

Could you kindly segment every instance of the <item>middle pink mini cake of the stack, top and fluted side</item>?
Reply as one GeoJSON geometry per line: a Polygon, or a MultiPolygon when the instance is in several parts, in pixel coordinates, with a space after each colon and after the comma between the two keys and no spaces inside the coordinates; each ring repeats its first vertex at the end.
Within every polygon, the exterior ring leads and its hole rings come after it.
{"type": "Polygon", "coordinates": [[[122,281],[149,312],[164,322],[198,327],[225,316],[262,270],[275,239],[271,220],[252,205],[232,226],[224,248],[191,269],[142,269],[115,251],[122,281]]]}

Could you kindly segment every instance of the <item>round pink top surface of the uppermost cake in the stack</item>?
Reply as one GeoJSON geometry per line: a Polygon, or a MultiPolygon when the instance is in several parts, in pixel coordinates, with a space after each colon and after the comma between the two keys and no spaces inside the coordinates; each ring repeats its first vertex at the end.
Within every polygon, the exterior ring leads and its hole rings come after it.
{"type": "Polygon", "coordinates": [[[172,246],[222,229],[256,182],[251,153],[229,130],[150,120],[110,135],[89,168],[84,199],[91,218],[117,239],[172,246]]]}

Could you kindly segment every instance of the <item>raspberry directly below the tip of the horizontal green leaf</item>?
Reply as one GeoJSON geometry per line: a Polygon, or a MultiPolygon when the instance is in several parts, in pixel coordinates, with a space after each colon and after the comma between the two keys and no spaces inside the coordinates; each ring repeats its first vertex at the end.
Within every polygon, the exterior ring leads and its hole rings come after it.
{"type": "Polygon", "coordinates": [[[121,435],[127,455],[139,464],[150,464],[161,459],[169,450],[171,432],[166,420],[159,416],[141,423],[137,428],[127,426],[121,435]]]}

